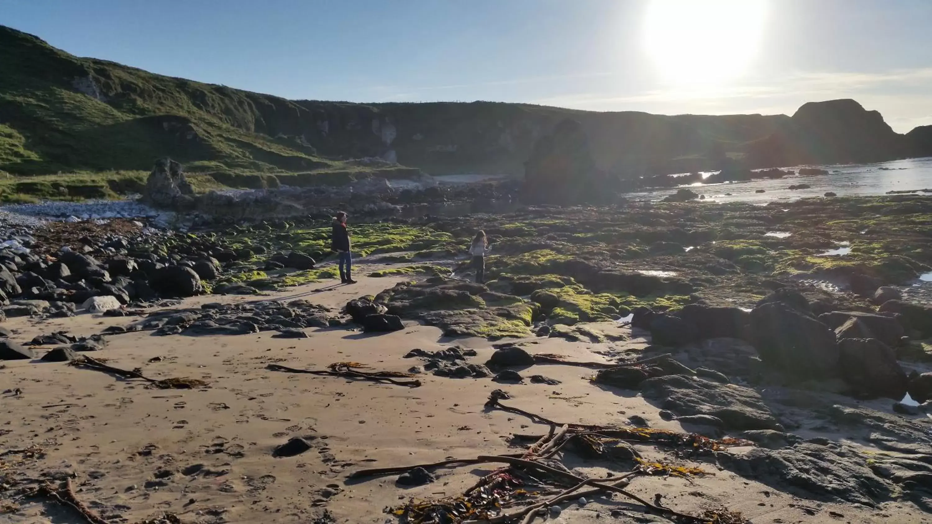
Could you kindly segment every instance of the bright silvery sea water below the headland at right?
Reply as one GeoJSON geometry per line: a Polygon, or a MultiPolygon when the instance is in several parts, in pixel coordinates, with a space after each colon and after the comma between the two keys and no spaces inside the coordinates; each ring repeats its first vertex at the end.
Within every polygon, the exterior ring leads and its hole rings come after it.
{"type": "MultiPolygon", "coordinates": [[[[687,186],[706,200],[714,202],[767,202],[796,200],[803,197],[835,193],[839,196],[884,195],[888,191],[932,190],[932,157],[894,160],[881,164],[855,164],[843,166],[802,166],[823,168],[828,175],[794,175],[779,180],[757,180],[687,186]],[[788,189],[790,185],[809,184],[810,189],[788,189]],[[758,190],[764,193],[757,193],[758,190]]],[[[793,167],[794,171],[800,166],[793,167]]],[[[627,196],[641,200],[660,200],[676,193],[679,188],[631,193],[627,196]]],[[[932,193],[918,193],[930,195],[932,193]]]]}

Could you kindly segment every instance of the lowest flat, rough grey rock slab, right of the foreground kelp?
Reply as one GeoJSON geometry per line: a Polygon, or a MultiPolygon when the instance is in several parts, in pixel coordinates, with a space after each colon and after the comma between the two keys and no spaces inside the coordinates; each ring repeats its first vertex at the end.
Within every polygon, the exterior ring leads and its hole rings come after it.
{"type": "Polygon", "coordinates": [[[780,450],[754,448],[715,455],[719,464],[741,477],[802,496],[874,507],[893,495],[893,485],[876,477],[864,456],[847,447],[802,443],[780,450]]]}

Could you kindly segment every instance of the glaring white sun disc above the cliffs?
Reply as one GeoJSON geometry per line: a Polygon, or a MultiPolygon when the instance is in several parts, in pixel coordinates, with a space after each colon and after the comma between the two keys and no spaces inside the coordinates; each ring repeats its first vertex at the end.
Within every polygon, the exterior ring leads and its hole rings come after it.
{"type": "Polygon", "coordinates": [[[645,44],[667,80],[720,84],[745,72],[761,41],[766,0],[651,0],[645,44]]]}

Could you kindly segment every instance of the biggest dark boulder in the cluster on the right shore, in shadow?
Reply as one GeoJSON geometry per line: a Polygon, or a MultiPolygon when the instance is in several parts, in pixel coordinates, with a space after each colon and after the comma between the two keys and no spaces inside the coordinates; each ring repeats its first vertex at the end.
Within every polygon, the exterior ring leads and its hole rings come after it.
{"type": "Polygon", "coordinates": [[[838,345],[828,326],[782,303],[764,303],[751,312],[753,344],[761,359],[795,379],[838,374],[838,345]]]}

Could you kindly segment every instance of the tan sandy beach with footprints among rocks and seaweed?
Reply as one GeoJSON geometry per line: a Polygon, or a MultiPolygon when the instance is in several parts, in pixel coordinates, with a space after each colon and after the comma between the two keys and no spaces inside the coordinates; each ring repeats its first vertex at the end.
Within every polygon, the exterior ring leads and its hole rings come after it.
{"type": "MultiPolygon", "coordinates": [[[[401,279],[364,278],[355,286],[312,284],[260,298],[204,296],[183,305],[305,298],[338,309],[396,281],[401,279]]],[[[7,328],[17,340],[29,340],[60,329],[90,335],[129,320],[89,314],[41,321],[17,318],[7,328]]],[[[266,368],[278,363],[324,369],[333,362],[354,361],[404,371],[419,364],[403,357],[409,350],[451,345],[439,329],[413,322],[405,327],[377,335],[348,328],[308,329],[308,338],[294,340],[271,338],[269,332],[201,337],[130,332],[109,336],[107,347],[94,353],[112,366],[141,368],[147,377],[189,377],[210,384],[194,390],[150,388],[140,380],[64,363],[7,362],[0,370],[0,384],[7,390],[0,397],[0,450],[37,447],[41,453],[7,454],[3,464],[26,477],[72,478],[76,496],[106,522],[150,522],[145,519],[171,514],[191,523],[381,523],[395,519],[383,508],[410,498],[457,495],[495,466],[440,468],[435,482],[416,488],[396,486],[395,476],[348,482],[354,470],[509,453],[515,451],[509,445],[513,434],[546,432],[546,425],[525,417],[484,410],[487,396],[497,388],[512,396],[514,406],[555,421],[624,425],[638,415],[651,427],[683,430],[676,421],[662,420],[658,409],[635,392],[590,383],[590,369],[534,367],[534,373],[561,381],[557,385],[425,374],[418,377],[421,387],[409,388],[266,368]],[[304,437],[311,449],[274,457],[273,450],[291,437],[304,437]]],[[[622,343],[527,342],[530,353],[596,361],[605,360],[602,355],[637,354],[647,345],[637,335],[622,343]]],[[[475,349],[476,362],[492,353],[485,340],[455,343],[475,349]]],[[[652,446],[638,450],[648,458],[664,458],[652,446]]],[[[637,477],[630,490],[644,499],[663,493],[667,506],[687,513],[727,506],[753,522],[930,521],[911,504],[823,504],[720,470],[713,461],[678,462],[702,467],[708,475],[637,477]]],[[[612,471],[610,464],[597,461],[576,460],[573,465],[574,471],[595,477],[612,471]]],[[[559,517],[548,521],[665,521],[644,515],[642,507],[629,502],[616,495],[563,504],[559,517]]],[[[74,511],[41,497],[4,508],[7,522],[80,521],[74,511]]]]}

